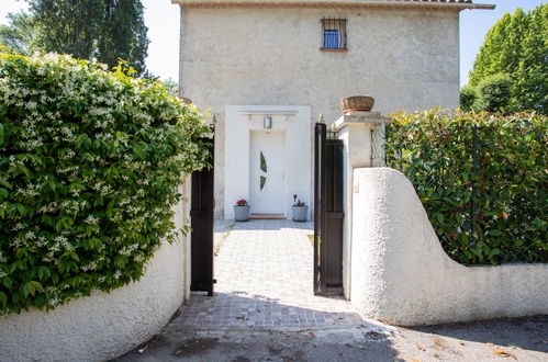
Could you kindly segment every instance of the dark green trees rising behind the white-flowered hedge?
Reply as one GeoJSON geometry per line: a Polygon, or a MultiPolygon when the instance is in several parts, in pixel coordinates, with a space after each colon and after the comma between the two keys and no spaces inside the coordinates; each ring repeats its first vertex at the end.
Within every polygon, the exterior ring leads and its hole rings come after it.
{"type": "Polygon", "coordinates": [[[70,54],[97,58],[110,67],[123,59],[138,73],[145,73],[149,42],[141,1],[26,1],[30,13],[12,15],[10,25],[0,29],[0,42],[23,54],[70,54]]]}

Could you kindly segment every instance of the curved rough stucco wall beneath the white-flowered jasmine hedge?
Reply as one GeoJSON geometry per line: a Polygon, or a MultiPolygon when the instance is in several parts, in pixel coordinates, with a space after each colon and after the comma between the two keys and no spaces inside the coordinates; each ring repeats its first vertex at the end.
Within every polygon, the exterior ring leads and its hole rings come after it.
{"type": "MultiPolygon", "coordinates": [[[[189,192],[190,180],[182,192],[189,192]]],[[[176,207],[182,226],[188,205],[176,207]]],[[[45,313],[0,318],[0,361],[104,361],[148,340],[169,321],[189,293],[189,237],[164,242],[146,274],[110,294],[93,293],[45,313]]]]}

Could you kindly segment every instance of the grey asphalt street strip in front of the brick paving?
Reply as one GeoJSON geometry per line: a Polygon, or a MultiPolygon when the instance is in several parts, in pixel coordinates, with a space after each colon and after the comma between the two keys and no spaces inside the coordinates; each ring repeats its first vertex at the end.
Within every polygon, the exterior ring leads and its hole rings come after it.
{"type": "Polygon", "coordinates": [[[184,315],[176,315],[159,335],[116,361],[548,360],[548,316],[420,328],[374,321],[338,327],[200,328],[181,320],[184,315]]]}

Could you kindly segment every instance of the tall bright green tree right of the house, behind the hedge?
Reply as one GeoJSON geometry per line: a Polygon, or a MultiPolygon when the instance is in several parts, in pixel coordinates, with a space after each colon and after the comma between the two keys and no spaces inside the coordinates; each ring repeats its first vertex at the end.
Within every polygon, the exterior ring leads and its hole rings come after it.
{"type": "Polygon", "coordinates": [[[510,111],[548,112],[548,4],[506,13],[490,29],[469,86],[497,73],[511,78],[510,111]]]}

